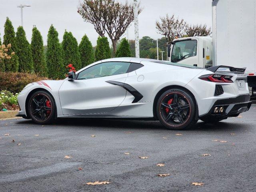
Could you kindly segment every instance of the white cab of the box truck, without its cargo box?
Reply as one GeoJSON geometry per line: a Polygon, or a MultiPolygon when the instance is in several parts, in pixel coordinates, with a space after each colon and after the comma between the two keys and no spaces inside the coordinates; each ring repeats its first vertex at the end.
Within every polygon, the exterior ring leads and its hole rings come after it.
{"type": "Polygon", "coordinates": [[[212,66],[212,38],[177,38],[168,43],[168,61],[200,68],[212,66]]]}

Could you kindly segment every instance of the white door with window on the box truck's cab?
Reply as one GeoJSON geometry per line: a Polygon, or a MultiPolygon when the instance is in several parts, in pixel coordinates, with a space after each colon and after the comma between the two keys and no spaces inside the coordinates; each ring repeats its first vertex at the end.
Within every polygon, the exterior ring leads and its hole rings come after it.
{"type": "Polygon", "coordinates": [[[186,39],[175,41],[172,46],[171,62],[199,67],[198,41],[186,39]]]}

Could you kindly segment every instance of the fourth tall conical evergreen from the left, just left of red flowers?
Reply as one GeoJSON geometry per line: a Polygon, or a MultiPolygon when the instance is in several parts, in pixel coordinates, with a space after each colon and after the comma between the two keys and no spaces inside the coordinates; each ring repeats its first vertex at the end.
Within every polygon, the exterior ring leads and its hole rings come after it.
{"type": "Polygon", "coordinates": [[[62,79],[65,77],[62,47],[58,39],[58,32],[53,25],[50,26],[47,36],[46,64],[49,78],[62,79]]]}

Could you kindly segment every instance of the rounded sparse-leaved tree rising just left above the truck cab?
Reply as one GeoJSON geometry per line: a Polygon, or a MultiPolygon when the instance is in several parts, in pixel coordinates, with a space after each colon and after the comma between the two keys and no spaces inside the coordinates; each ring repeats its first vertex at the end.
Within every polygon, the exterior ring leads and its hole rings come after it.
{"type": "Polygon", "coordinates": [[[166,14],[165,17],[160,17],[160,21],[156,22],[156,29],[158,33],[164,35],[166,42],[174,40],[174,38],[180,38],[185,35],[186,22],[183,19],[171,17],[166,14]]]}

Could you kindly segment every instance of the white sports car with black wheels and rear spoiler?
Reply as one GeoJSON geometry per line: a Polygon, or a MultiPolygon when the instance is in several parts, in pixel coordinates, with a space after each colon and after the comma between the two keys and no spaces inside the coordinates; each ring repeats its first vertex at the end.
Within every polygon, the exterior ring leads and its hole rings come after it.
{"type": "Polygon", "coordinates": [[[18,95],[17,116],[38,124],[62,117],[159,120],[181,130],[198,119],[218,122],[249,110],[244,70],[139,58],[102,60],[64,80],[28,84],[18,95]]]}

